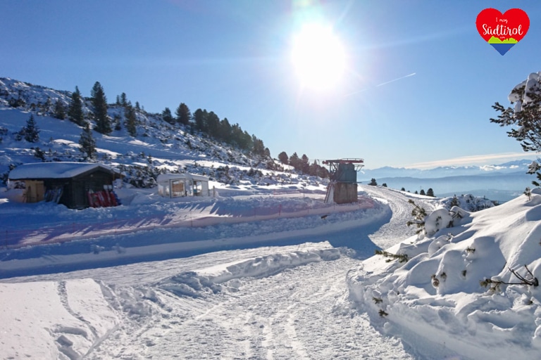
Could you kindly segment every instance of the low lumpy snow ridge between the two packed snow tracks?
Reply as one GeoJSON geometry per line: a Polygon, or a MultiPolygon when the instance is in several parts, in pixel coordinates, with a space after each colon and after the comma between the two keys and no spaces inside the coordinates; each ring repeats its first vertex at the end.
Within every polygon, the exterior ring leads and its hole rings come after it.
{"type": "Polygon", "coordinates": [[[266,255],[197,271],[184,271],[164,279],[158,283],[158,288],[178,296],[205,297],[220,293],[223,288],[235,290],[240,287],[243,278],[263,278],[295,266],[335,260],[339,257],[340,249],[337,248],[266,255]]]}

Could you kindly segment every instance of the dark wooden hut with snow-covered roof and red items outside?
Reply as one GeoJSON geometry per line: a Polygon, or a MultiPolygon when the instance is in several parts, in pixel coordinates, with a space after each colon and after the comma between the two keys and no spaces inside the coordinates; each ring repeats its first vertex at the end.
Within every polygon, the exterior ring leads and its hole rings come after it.
{"type": "Polygon", "coordinates": [[[113,181],[120,172],[107,165],[89,162],[39,162],[11,170],[8,181],[25,183],[23,201],[54,201],[70,209],[113,206],[118,201],[113,181]]]}

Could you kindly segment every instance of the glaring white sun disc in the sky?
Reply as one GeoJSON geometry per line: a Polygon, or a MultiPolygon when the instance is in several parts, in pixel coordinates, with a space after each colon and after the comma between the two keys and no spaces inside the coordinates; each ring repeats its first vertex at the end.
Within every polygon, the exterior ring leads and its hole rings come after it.
{"type": "Polygon", "coordinates": [[[291,60],[301,86],[309,89],[334,88],[344,76],[346,54],[332,27],[310,24],[292,41],[291,60]]]}

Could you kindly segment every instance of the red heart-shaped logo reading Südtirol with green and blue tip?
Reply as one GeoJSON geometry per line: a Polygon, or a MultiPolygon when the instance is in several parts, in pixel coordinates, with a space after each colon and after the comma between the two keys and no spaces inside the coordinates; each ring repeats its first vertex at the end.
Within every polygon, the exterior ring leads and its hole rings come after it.
{"type": "Polygon", "coordinates": [[[502,55],[526,35],[530,28],[528,14],[520,8],[501,13],[495,8],[485,8],[475,20],[477,31],[502,55]]]}

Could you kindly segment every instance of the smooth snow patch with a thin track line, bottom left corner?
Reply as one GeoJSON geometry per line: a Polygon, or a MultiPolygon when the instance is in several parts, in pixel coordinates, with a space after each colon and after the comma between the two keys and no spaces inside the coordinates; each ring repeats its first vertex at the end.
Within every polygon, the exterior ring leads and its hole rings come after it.
{"type": "Polygon", "coordinates": [[[92,279],[0,283],[2,359],[77,359],[120,323],[92,279]]]}

